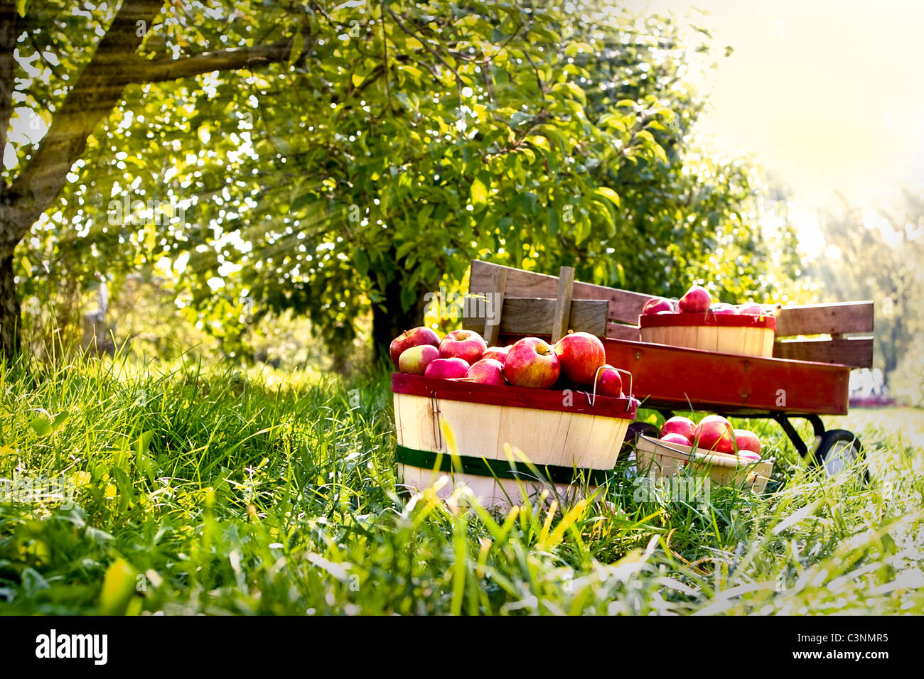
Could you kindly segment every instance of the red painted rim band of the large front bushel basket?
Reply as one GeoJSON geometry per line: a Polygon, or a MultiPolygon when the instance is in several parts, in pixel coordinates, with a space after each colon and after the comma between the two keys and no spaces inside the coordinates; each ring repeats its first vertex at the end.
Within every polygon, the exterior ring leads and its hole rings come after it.
{"type": "Polygon", "coordinates": [[[563,413],[583,413],[604,418],[635,419],[638,400],[612,398],[597,394],[590,405],[592,394],[573,391],[571,405],[565,405],[565,394],[560,389],[529,389],[527,387],[494,386],[469,382],[466,379],[443,380],[436,377],[392,374],[392,391],[395,394],[434,396],[448,401],[482,403],[488,406],[511,406],[556,410],[563,413]]]}

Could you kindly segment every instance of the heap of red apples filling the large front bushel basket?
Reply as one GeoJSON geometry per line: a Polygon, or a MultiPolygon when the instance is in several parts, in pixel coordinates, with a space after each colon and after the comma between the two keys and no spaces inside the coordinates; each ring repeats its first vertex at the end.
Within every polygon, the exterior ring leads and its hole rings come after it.
{"type": "Polygon", "coordinates": [[[395,337],[389,354],[395,368],[409,375],[534,389],[565,384],[623,396],[619,371],[606,365],[603,343],[590,333],[569,332],[554,345],[524,337],[511,346],[487,346],[472,330],[456,330],[440,339],[421,326],[395,337]]]}

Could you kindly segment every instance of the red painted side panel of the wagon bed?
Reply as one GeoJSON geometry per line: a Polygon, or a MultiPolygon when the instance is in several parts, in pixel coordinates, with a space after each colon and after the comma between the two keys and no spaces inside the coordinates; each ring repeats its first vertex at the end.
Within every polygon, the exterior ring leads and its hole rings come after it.
{"type": "Polygon", "coordinates": [[[727,414],[846,415],[848,366],[718,354],[603,338],[606,361],[630,371],[642,407],[727,414]]]}

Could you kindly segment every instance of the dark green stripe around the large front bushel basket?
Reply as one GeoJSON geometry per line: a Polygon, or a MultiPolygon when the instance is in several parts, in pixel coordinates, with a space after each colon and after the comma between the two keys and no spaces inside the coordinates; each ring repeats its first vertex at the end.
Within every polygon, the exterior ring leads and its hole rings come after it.
{"type": "Polygon", "coordinates": [[[489,460],[484,457],[468,457],[467,455],[448,455],[446,453],[433,453],[427,450],[415,450],[399,445],[395,449],[395,461],[401,465],[419,467],[421,469],[439,469],[440,471],[456,471],[456,473],[471,474],[479,477],[495,477],[497,479],[522,479],[553,481],[554,483],[571,483],[583,477],[590,485],[600,486],[613,476],[612,469],[590,469],[587,467],[558,467],[557,465],[527,465],[525,463],[507,462],[506,460],[489,460]],[[453,464],[453,461],[456,464],[453,464]],[[537,472],[539,473],[537,476],[537,472]]]}

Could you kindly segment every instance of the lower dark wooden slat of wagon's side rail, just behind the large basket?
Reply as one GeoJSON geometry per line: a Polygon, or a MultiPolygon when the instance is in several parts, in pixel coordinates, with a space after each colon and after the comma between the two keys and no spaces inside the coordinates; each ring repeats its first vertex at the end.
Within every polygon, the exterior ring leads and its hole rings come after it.
{"type": "MultiPolygon", "coordinates": [[[[602,337],[606,333],[606,308],[603,299],[573,299],[567,330],[602,337]]],[[[551,335],[554,316],[554,299],[505,297],[500,334],[551,335]]],[[[463,317],[462,327],[483,333],[484,319],[463,317]]]]}

